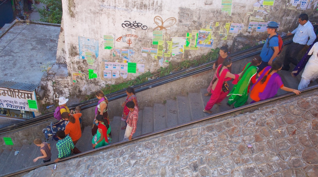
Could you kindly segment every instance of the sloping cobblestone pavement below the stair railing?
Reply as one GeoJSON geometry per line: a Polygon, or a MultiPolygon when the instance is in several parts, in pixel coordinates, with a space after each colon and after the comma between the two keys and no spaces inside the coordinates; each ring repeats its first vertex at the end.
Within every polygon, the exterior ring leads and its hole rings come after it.
{"type": "Polygon", "coordinates": [[[318,176],[317,93],[170,130],[24,176],[318,176]]]}

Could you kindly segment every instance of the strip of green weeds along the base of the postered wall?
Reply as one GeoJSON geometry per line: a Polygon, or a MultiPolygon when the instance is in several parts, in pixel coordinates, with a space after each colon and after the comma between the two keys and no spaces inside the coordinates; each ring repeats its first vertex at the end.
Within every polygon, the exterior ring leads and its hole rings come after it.
{"type": "MultiPolygon", "coordinates": [[[[119,84],[114,85],[107,85],[106,87],[102,88],[101,90],[104,92],[105,95],[125,89],[129,86],[134,86],[138,84],[142,84],[144,82],[148,82],[151,79],[160,78],[166,75],[171,74],[172,72],[176,72],[182,69],[188,69],[190,67],[195,67],[213,60],[216,60],[218,57],[219,48],[211,49],[211,51],[206,54],[202,55],[197,60],[185,60],[183,62],[177,63],[176,65],[173,65],[171,62],[169,62],[169,66],[166,68],[160,67],[160,69],[157,70],[156,73],[150,73],[150,71],[143,73],[142,75],[139,75],[136,79],[122,82],[119,84]]],[[[95,94],[92,93],[91,95],[86,95],[86,100],[95,98],[95,94]]]]}

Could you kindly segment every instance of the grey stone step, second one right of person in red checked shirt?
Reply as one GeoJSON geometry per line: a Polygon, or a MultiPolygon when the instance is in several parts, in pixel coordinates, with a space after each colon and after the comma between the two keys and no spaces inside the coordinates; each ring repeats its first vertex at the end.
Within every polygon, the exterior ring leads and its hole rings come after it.
{"type": "Polygon", "coordinates": [[[147,134],[154,131],[154,109],[145,107],[142,117],[142,134],[147,134]]]}

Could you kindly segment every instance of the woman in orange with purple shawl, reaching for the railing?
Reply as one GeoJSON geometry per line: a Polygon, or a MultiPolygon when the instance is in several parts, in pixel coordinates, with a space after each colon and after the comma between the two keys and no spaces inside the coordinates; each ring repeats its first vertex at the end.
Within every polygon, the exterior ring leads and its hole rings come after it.
{"type": "Polygon", "coordinates": [[[275,61],[273,62],[272,66],[267,66],[261,72],[259,72],[258,80],[251,88],[250,97],[253,100],[251,103],[272,98],[277,94],[278,89],[294,92],[296,95],[300,94],[299,90],[290,89],[284,86],[280,75],[277,74],[277,71],[279,71],[281,68],[282,63],[275,61]]]}

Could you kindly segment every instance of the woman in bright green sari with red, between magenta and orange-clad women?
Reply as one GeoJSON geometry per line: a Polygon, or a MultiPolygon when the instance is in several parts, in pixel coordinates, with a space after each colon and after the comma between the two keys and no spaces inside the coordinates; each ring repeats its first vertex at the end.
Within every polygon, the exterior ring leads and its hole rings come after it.
{"type": "Polygon", "coordinates": [[[235,102],[233,108],[238,108],[244,105],[247,101],[249,85],[251,82],[255,83],[257,81],[257,66],[259,66],[261,62],[262,58],[260,56],[256,56],[252,59],[252,62],[245,65],[238,84],[234,85],[232,91],[227,95],[230,96],[229,101],[227,102],[229,105],[232,105],[235,102]]]}

